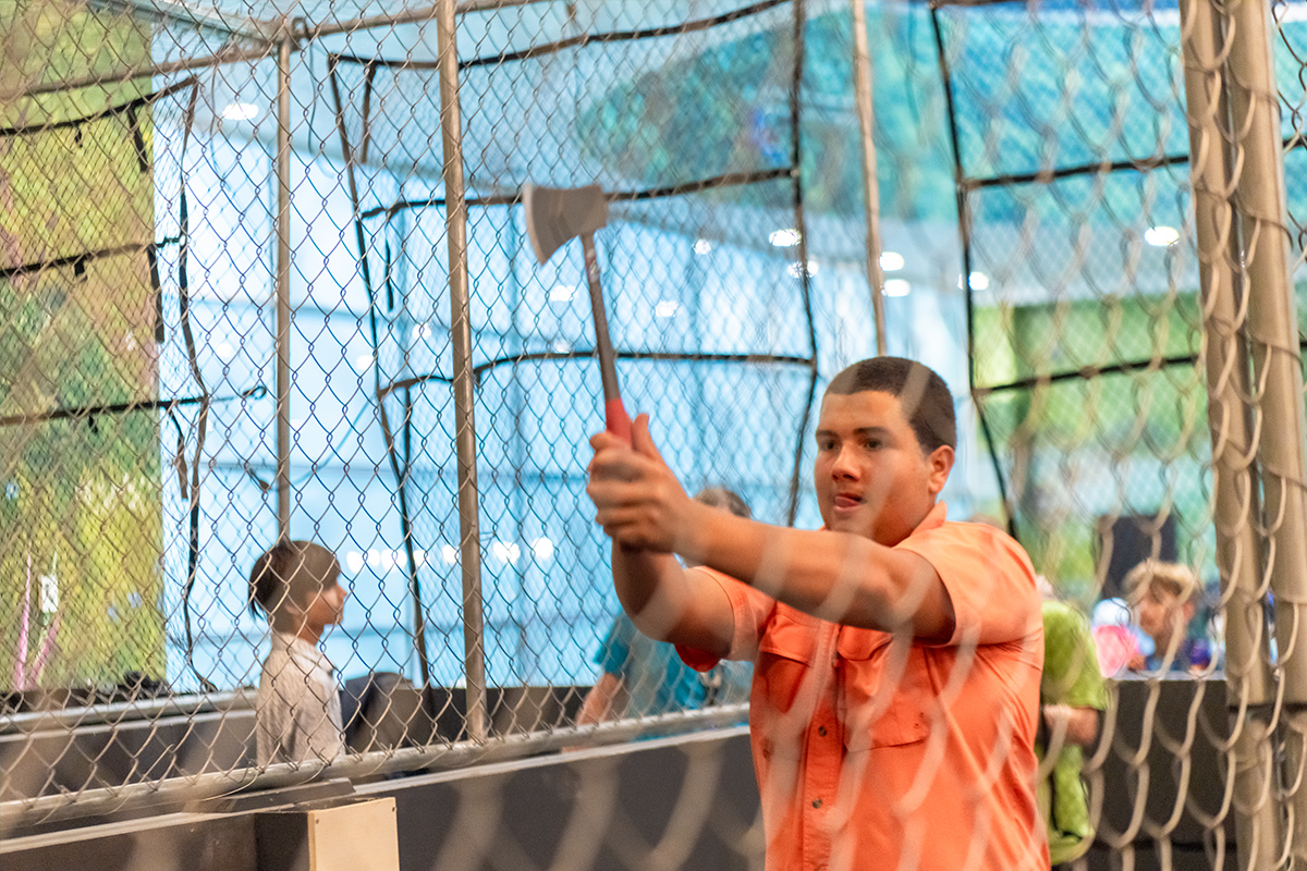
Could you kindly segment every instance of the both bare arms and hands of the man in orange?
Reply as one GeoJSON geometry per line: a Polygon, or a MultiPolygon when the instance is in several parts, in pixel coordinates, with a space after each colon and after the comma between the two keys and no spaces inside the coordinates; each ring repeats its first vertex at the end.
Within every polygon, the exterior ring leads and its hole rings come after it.
{"type": "Polygon", "coordinates": [[[614,542],[618,597],[642,632],[712,653],[729,644],[725,594],[712,582],[687,580],[669,556],[677,552],[829,620],[887,631],[911,627],[915,636],[932,640],[953,633],[948,592],[916,554],[699,505],[659,456],[647,415],[637,418],[630,448],[609,434],[591,444],[596,453],[588,492],[614,542]],[[661,629],[644,614],[651,605],[661,629]]]}

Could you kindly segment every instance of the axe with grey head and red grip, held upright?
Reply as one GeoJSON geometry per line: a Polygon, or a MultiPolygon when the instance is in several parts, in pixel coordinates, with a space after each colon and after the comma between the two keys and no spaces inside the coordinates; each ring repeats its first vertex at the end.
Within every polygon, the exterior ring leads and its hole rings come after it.
{"type": "Polygon", "coordinates": [[[521,188],[521,205],[527,210],[527,236],[541,264],[563,244],[580,236],[580,245],[586,252],[589,307],[595,315],[599,376],[604,383],[605,426],[609,432],[630,444],[631,419],[617,387],[613,341],[608,336],[604,289],[599,283],[599,259],[595,256],[595,231],[608,225],[608,197],[597,184],[584,188],[541,188],[528,182],[521,188]]]}

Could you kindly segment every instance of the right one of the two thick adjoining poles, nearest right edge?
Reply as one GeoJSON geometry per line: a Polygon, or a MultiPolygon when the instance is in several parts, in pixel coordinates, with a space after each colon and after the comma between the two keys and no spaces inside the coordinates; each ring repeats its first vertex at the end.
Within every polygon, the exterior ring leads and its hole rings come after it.
{"type": "Polygon", "coordinates": [[[1307,466],[1303,462],[1303,373],[1289,281],[1289,240],[1280,91],[1270,51],[1270,7],[1260,0],[1227,5],[1230,106],[1242,158],[1236,208],[1248,287],[1248,337],[1263,385],[1257,460],[1263,469],[1266,569],[1276,595],[1276,639],[1285,703],[1285,781],[1293,791],[1290,850],[1307,861],[1307,466]]]}

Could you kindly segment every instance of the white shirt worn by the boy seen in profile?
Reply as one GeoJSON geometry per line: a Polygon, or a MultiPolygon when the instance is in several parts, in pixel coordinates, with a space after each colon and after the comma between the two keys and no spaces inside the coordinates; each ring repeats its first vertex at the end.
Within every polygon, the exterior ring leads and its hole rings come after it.
{"type": "Polygon", "coordinates": [[[255,733],[260,765],[331,761],[345,752],[331,661],[289,632],[272,633],[255,701],[255,733]]]}

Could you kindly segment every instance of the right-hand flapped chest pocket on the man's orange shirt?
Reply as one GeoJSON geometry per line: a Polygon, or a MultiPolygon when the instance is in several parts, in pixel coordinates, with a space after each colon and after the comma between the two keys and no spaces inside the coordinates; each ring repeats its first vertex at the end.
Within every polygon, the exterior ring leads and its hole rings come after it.
{"type": "Polygon", "coordinates": [[[840,628],[836,649],[839,720],[848,751],[925,740],[933,697],[925,652],[886,632],[852,627],[840,628]]]}

